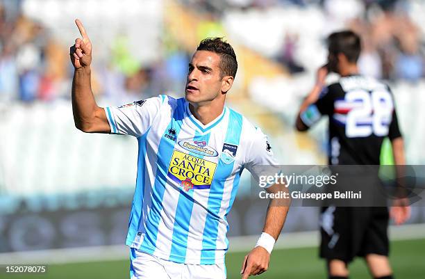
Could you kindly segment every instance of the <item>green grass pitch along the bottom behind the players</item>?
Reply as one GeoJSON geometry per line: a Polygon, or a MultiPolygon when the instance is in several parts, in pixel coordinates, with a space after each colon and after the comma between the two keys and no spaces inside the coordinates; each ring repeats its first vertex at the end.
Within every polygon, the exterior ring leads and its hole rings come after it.
{"type": "MultiPolygon", "coordinates": [[[[393,241],[390,260],[396,278],[425,278],[425,239],[393,241]]],[[[269,270],[259,279],[325,279],[324,262],[317,258],[317,248],[274,250],[269,270]]],[[[245,253],[226,255],[228,278],[241,278],[239,272],[245,253]]],[[[362,260],[350,266],[350,278],[370,278],[362,260]]],[[[47,274],[17,275],[3,273],[1,279],[128,279],[128,260],[50,265],[47,274]]]]}

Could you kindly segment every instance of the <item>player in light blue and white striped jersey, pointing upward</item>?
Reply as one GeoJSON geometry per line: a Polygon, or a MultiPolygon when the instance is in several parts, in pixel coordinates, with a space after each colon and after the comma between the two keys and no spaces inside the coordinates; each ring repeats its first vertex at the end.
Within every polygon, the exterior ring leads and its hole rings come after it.
{"type": "MultiPolygon", "coordinates": [[[[159,95],[101,108],[90,87],[92,45],[82,38],[70,49],[74,65],[75,125],[89,133],[126,134],[138,140],[138,174],[126,245],[131,278],[226,278],[226,216],[244,168],[258,178],[276,166],[263,132],[224,106],[238,63],[221,38],[201,41],[189,63],[185,97],[159,95]],[[258,168],[256,168],[258,167],[258,168]]],[[[267,188],[270,193],[280,184],[267,188]]],[[[242,264],[243,278],[267,270],[288,207],[267,209],[263,233],[242,264]]]]}

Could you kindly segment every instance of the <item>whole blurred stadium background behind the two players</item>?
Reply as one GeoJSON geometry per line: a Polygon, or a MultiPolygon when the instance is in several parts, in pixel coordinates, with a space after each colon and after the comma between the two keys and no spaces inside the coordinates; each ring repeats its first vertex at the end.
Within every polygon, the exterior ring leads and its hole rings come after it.
{"type": "MultiPolygon", "coordinates": [[[[31,278],[128,278],[124,237],[136,141],[74,127],[69,47],[85,25],[99,105],[183,96],[198,42],[224,36],[239,69],[228,105],[269,134],[283,164],[326,164],[326,120],[294,131],[301,99],[326,61],[326,36],[360,33],[360,70],[385,79],[397,101],[408,164],[425,164],[425,1],[0,0],[0,264],[45,263],[31,278]]],[[[335,77],[329,77],[331,81],[335,77]]],[[[385,162],[390,163],[389,145],[385,162]]],[[[263,226],[245,173],[230,216],[229,278],[263,226]]],[[[425,203],[390,228],[397,278],[425,278],[425,203]]],[[[260,278],[325,278],[317,209],[294,207],[260,278]]],[[[361,262],[353,278],[367,278],[361,262]]],[[[0,274],[0,278],[27,278],[0,274]]]]}

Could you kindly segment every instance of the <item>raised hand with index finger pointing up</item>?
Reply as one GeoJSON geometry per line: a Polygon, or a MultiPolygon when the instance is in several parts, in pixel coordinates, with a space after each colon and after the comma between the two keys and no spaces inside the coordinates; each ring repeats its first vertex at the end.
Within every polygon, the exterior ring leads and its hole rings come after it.
{"type": "Polygon", "coordinates": [[[79,69],[89,67],[92,63],[92,42],[90,42],[80,19],[75,19],[75,23],[83,38],[75,39],[75,44],[69,48],[69,56],[74,68],[79,69]]]}

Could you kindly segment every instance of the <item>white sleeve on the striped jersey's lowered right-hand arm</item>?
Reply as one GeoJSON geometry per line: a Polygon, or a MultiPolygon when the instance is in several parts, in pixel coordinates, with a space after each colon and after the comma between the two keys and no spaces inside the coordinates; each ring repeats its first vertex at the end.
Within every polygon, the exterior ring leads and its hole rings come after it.
{"type": "MultiPolygon", "coordinates": [[[[257,182],[262,176],[274,176],[281,173],[278,161],[273,154],[272,145],[260,128],[256,128],[251,146],[247,150],[247,163],[244,164],[244,167],[249,170],[257,182]]],[[[267,186],[272,186],[272,184],[267,186]]]]}

